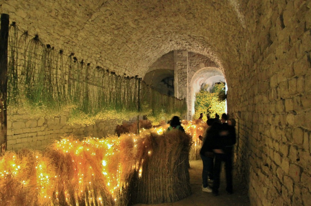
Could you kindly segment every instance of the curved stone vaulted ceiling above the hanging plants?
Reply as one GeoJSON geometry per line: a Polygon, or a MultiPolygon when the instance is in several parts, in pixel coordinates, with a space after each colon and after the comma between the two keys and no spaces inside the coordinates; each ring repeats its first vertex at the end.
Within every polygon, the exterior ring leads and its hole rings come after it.
{"type": "Polygon", "coordinates": [[[206,55],[223,69],[230,64],[228,53],[237,53],[244,24],[232,0],[7,0],[0,11],[64,53],[141,77],[157,58],[177,49],[206,55]]]}

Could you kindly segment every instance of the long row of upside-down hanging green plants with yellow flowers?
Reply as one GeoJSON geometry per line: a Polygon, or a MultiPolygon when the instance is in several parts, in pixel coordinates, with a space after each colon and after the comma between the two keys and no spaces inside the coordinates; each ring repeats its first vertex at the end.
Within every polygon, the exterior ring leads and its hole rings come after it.
{"type": "Polygon", "coordinates": [[[137,76],[118,76],[92,67],[78,61],[74,53],[67,57],[62,50],[44,45],[38,34],[31,37],[21,32],[15,23],[9,30],[8,60],[9,107],[28,108],[39,116],[55,116],[72,108],[70,124],[128,119],[137,114],[157,122],[187,111],[184,100],[160,94],[137,76]]]}

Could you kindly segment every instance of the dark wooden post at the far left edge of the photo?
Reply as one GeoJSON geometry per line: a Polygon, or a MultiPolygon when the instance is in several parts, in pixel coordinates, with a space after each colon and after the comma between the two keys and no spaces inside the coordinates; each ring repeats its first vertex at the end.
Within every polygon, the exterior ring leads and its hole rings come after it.
{"type": "Polygon", "coordinates": [[[0,145],[1,154],[7,149],[7,41],[9,15],[1,14],[0,24],[0,145]]]}

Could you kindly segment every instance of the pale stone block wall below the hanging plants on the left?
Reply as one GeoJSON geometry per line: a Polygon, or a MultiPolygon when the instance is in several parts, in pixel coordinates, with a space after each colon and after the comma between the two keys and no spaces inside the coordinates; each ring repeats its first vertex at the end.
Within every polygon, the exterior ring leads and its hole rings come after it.
{"type": "Polygon", "coordinates": [[[53,118],[34,118],[29,114],[18,114],[8,110],[7,149],[44,150],[48,144],[59,140],[61,136],[74,135],[78,139],[87,136],[101,138],[115,133],[116,120],[96,121],[95,125],[90,126],[70,126],[66,124],[69,115],[70,110],[53,118]]]}

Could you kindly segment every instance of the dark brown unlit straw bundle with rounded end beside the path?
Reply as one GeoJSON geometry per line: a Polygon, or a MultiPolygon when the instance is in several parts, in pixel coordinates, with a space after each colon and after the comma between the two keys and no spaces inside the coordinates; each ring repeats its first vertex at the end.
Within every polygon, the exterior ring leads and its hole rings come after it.
{"type": "Polygon", "coordinates": [[[188,172],[190,136],[180,131],[155,132],[137,143],[139,160],[132,202],[160,204],[175,202],[191,194],[188,172]]]}

